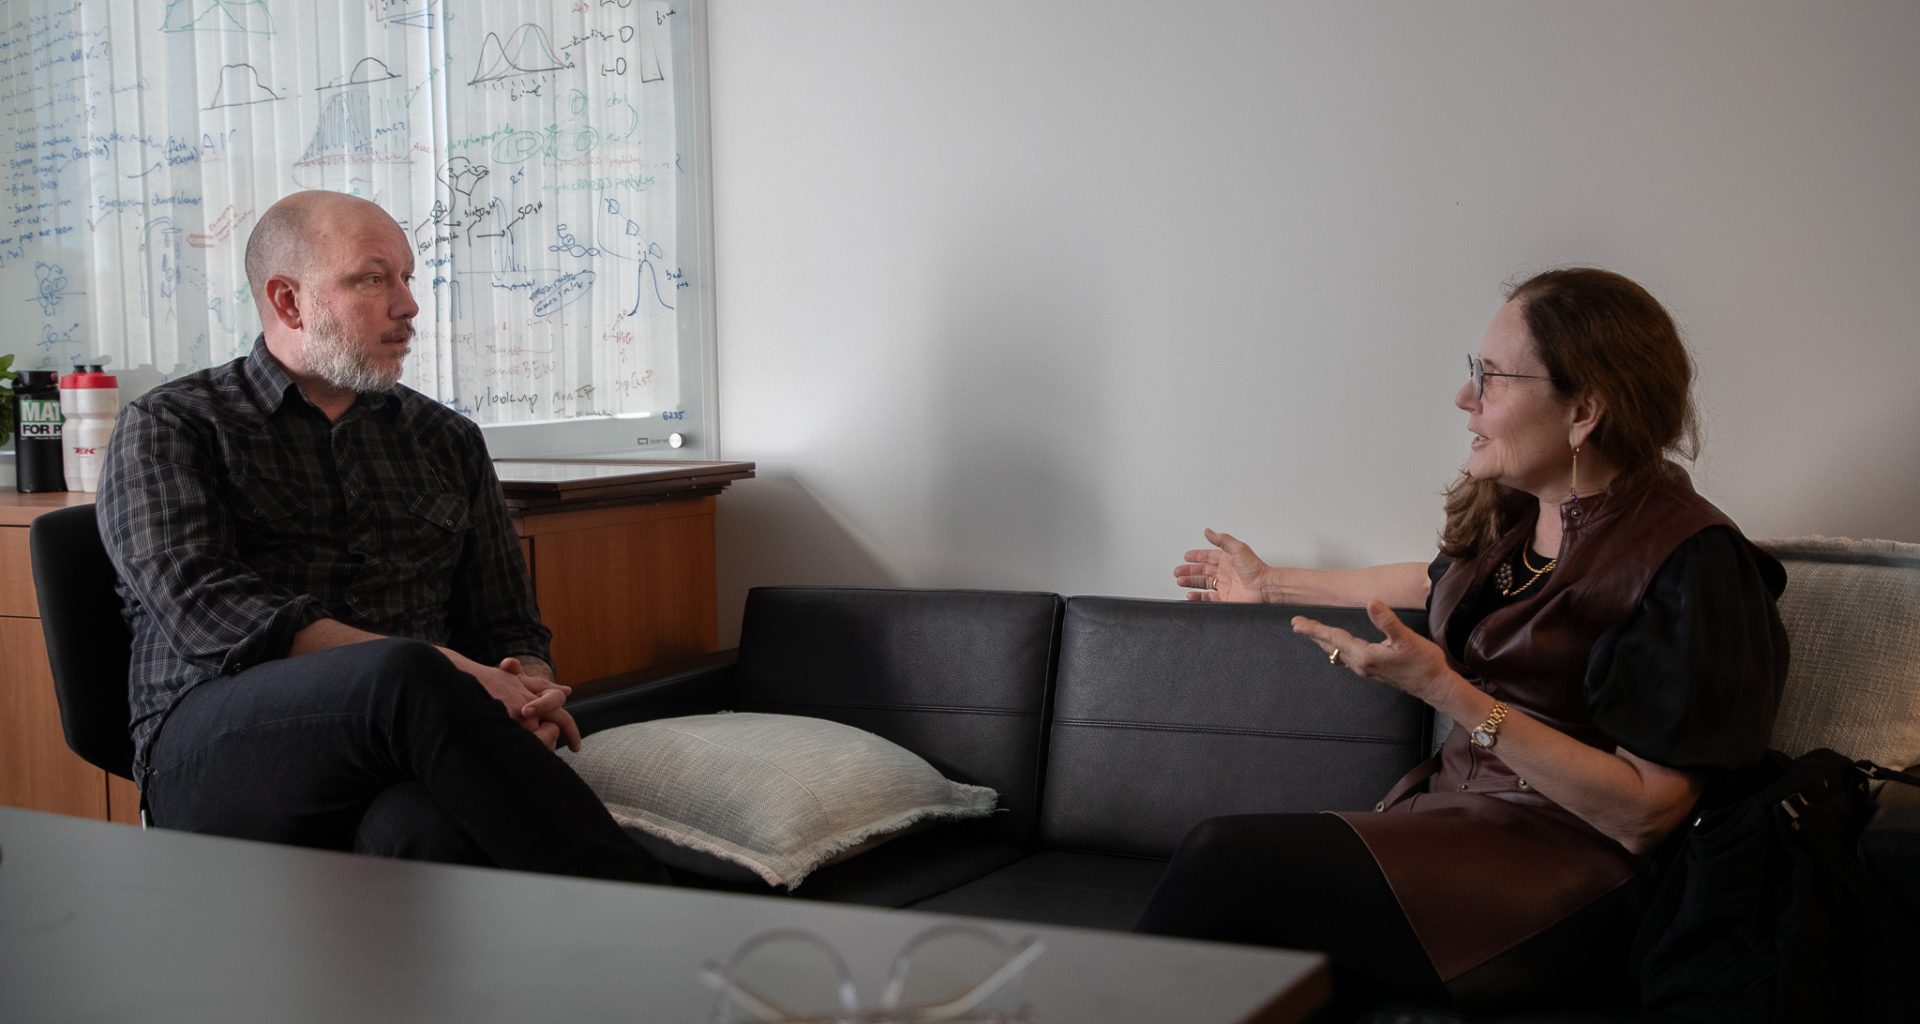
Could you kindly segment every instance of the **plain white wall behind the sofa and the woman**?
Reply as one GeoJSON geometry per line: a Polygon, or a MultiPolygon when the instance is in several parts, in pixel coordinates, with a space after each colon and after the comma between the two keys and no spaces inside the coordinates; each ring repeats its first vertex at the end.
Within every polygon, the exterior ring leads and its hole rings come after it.
{"type": "Polygon", "coordinates": [[[720,607],[1425,559],[1501,282],[1701,365],[1753,536],[1920,540],[1920,4],[710,0],[720,607]]]}

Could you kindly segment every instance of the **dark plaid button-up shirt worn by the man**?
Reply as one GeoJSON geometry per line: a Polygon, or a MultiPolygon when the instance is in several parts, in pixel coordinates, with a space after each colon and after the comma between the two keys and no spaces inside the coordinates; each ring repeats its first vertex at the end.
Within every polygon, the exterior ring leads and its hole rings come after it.
{"type": "Polygon", "coordinates": [[[405,386],[328,423],[255,340],[121,411],[98,509],[132,626],[136,778],[182,694],[321,619],[549,659],[480,428],[405,386]]]}

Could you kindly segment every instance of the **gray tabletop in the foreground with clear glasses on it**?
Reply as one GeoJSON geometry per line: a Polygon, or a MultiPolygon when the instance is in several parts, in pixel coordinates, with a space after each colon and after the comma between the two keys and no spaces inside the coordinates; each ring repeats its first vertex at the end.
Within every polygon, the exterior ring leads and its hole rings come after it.
{"type": "MultiPolygon", "coordinates": [[[[895,955],[966,920],[380,861],[0,807],[0,1020],[703,1022],[755,936],[818,936],[862,1005],[895,955]]],[[[1008,945],[1033,1024],[1286,1022],[1325,959],[972,922],[1008,945]]]]}

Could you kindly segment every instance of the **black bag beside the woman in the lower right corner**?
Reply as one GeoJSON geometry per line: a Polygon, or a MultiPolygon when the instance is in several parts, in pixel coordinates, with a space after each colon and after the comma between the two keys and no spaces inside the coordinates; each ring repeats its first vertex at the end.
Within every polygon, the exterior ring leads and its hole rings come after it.
{"type": "Polygon", "coordinates": [[[1822,747],[1768,751],[1738,795],[1709,795],[1634,941],[1642,1005],[1699,1024],[1868,1020],[1860,959],[1914,928],[1855,855],[1876,778],[1920,786],[1822,747]]]}

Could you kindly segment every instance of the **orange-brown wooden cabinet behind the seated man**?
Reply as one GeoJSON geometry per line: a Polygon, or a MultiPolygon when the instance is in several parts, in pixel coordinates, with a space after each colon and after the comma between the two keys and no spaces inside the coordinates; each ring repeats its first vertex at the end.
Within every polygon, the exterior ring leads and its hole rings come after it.
{"type": "MultiPolygon", "coordinates": [[[[515,513],[563,682],[718,647],[714,490],[515,513]]],[[[0,805],[138,822],[134,786],[67,749],[27,557],[35,517],[90,500],[0,488],[0,805]]]]}

